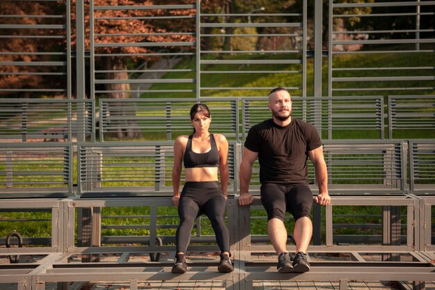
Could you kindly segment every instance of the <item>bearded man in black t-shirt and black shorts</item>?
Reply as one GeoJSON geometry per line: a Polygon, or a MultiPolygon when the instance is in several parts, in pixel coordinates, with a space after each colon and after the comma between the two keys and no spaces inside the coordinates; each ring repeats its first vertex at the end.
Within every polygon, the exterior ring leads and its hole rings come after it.
{"type": "Polygon", "coordinates": [[[268,108],[272,119],[254,125],[245,140],[240,163],[239,204],[243,206],[253,201],[249,182],[252,165],[258,157],[261,202],[268,213],[268,236],[279,256],[278,272],[303,273],[310,269],[306,252],[313,234],[310,214],[313,200],[321,205],[331,203],[322,141],[313,125],[291,118],[292,102],[286,89],[274,88],[270,92],[268,108]],[[308,184],[308,158],[315,168],[319,188],[314,198],[308,184]],[[286,211],[295,218],[293,263],[286,251],[286,211]]]}

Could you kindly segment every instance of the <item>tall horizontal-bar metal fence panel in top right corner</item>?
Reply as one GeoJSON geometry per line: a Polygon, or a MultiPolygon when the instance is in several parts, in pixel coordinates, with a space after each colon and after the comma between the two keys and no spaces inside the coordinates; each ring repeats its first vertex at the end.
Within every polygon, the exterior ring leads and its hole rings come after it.
{"type": "Polygon", "coordinates": [[[330,0],[328,95],[348,95],[355,91],[357,95],[432,93],[434,67],[428,65],[426,58],[433,58],[434,54],[435,30],[428,21],[434,17],[433,6],[434,1],[344,3],[330,0]],[[370,26],[372,29],[361,29],[356,23],[388,23],[393,19],[402,24],[391,29],[376,25],[370,26]],[[352,20],[353,25],[344,25],[352,20]],[[338,65],[338,61],[351,54],[363,59],[366,65],[356,67],[353,62],[345,61],[338,65]],[[417,54],[425,57],[418,62],[414,58],[417,54]],[[402,61],[396,66],[378,61],[379,56],[386,55],[402,61]]]}

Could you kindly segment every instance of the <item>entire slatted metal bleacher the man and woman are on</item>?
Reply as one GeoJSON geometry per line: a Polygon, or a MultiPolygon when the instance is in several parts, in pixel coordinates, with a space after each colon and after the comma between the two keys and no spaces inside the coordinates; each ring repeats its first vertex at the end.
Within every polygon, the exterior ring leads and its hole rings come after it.
{"type": "MultiPolygon", "coordinates": [[[[432,104],[434,100],[432,97],[432,104]]],[[[17,104],[26,100],[13,102],[17,104]]],[[[82,281],[95,280],[95,277],[102,281],[126,281],[131,289],[143,280],[222,280],[227,289],[252,289],[258,280],[282,280],[283,276],[274,271],[274,263],[258,260],[258,255],[273,252],[267,236],[251,232],[251,223],[264,220],[258,216],[258,211],[261,211],[258,165],[254,166],[252,178],[252,193],[256,195],[254,204],[239,207],[237,203],[238,164],[244,136],[249,124],[255,124],[268,115],[265,99],[229,98],[222,101],[216,98],[198,99],[196,102],[206,102],[211,108],[213,123],[217,123],[213,124],[213,131],[222,129],[220,120],[228,122],[224,124],[230,145],[227,218],[236,271],[217,273],[213,261],[192,261],[188,274],[172,275],[170,263],[155,259],[156,255],[164,252],[173,255],[174,251],[173,234],[161,234],[161,229],[174,229],[174,225],[167,224],[165,216],[158,212],[162,207],[171,207],[172,139],[190,131],[190,120],[181,116],[186,115],[192,100],[117,100],[116,108],[134,108],[132,115],[136,118],[132,120],[138,125],[138,130],[163,132],[163,140],[119,142],[106,141],[104,134],[111,130],[109,128],[126,129],[131,122],[113,118],[108,111],[112,101],[102,99],[99,130],[104,138],[100,142],[0,143],[1,211],[47,211],[51,216],[50,238],[25,236],[23,248],[1,248],[3,257],[29,255],[35,259],[34,263],[19,266],[1,265],[1,280],[17,283],[17,289],[38,290],[44,289],[43,285],[48,282],[56,282],[58,287],[74,287],[82,281]],[[153,104],[156,112],[162,111],[158,115],[172,118],[178,114],[179,121],[167,122],[165,118],[142,115],[142,112],[149,112],[145,109],[149,104],[153,104]],[[104,209],[110,207],[145,208],[146,213],[141,216],[147,221],[143,225],[103,224],[102,220],[110,218],[129,218],[128,214],[105,216],[104,209]],[[149,235],[104,235],[106,229],[121,227],[146,228],[149,235]],[[36,248],[26,247],[38,244],[36,248]],[[135,255],[154,258],[149,262],[129,261],[135,255]],[[107,257],[114,260],[107,261],[107,257]]],[[[319,131],[327,136],[351,128],[352,115],[359,111],[361,119],[354,130],[376,131],[382,136],[384,124],[392,124],[391,115],[381,114],[382,104],[381,97],[369,97],[364,102],[351,104],[345,104],[343,97],[295,98],[293,109],[296,118],[316,124],[316,117],[322,115],[320,112],[329,108],[331,118],[318,123],[322,124],[318,126],[319,131]],[[383,122],[384,119],[387,122],[383,122]]],[[[427,104],[425,102],[425,106],[427,104]]],[[[34,104],[30,109],[35,111],[41,108],[39,105],[34,104]]],[[[47,102],[42,108],[49,111],[50,106],[57,105],[47,102]]],[[[90,115],[95,114],[90,112],[90,115]]],[[[130,119],[126,115],[124,118],[130,119]]],[[[79,127],[83,128],[80,125],[67,127],[70,129],[67,136],[74,140],[76,132],[72,128],[79,127]]],[[[407,129],[413,130],[416,126],[407,129]]],[[[431,231],[432,205],[435,202],[433,140],[325,138],[323,143],[332,204],[323,213],[320,207],[313,209],[314,228],[318,231],[315,230],[310,247],[314,258],[312,270],[302,275],[289,275],[286,279],[339,280],[340,288],[345,289],[345,281],[370,278],[413,281],[414,288],[424,288],[424,281],[434,279],[431,231]],[[355,215],[341,215],[340,211],[336,214],[336,209],[343,207],[355,208],[355,215]],[[358,218],[357,207],[378,208],[374,216],[380,222],[347,222],[349,218],[358,218]],[[377,230],[340,234],[340,229],[357,227],[377,230]],[[331,261],[335,255],[342,259],[331,261]],[[381,258],[368,260],[368,256],[373,255],[381,258]]],[[[316,193],[311,166],[309,179],[313,182],[313,193],[316,193]]],[[[197,234],[192,235],[189,250],[216,252],[213,235],[202,233],[201,222],[195,229],[197,234]]],[[[289,250],[293,247],[289,245],[289,250]]]]}

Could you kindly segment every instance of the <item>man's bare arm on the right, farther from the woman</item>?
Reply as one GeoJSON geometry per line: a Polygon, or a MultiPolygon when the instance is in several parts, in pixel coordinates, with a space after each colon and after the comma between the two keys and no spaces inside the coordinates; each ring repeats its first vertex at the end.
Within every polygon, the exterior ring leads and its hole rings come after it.
{"type": "Polygon", "coordinates": [[[319,194],[315,196],[314,201],[321,205],[328,205],[331,203],[331,197],[328,193],[328,171],[323,156],[323,147],[317,147],[315,150],[308,152],[308,156],[313,162],[315,170],[315,180],[319,186],[319,194]]]}

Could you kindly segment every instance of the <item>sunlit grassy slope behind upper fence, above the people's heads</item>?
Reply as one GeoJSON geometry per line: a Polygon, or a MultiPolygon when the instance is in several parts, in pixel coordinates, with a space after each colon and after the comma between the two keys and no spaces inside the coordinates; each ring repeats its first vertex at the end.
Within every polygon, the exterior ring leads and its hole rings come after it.
{"type": "MultiPolygon", "coordinates": [[[[227,56],[224,59],[289,59],[297,58],[295,55],[261,55],[261,54],[245,54],[227,56]]],[[[420,54],[372,54],[370,56],[365,54],[348,54],[334,56],[334,67],[372,67],[373,70],[363,71],[343,71],[334,72],[334,77],[365,77],[365,76],[433,76],[433,70],[378,70],[378,67],[425,67],[428,63],[435,62],[435,55],[432,53],[420,53],[420,54]]],[[[306,75],[307,75],[307,96],[313,96],[313,59],[309,58],[306,63],[306,75]]],[[[195,60],[190,58],[182,61],[176,68],[190,68],[195,69],[195,60]]],[[[207,70],[215,71],[231,71],[237,70],[243,72],[244,70],[301,70],[301,65],[202,65],[201,70],[205,72],[207,70]]],[[[192,78],[195,79],[195,72],[189,73],[177,73],[171,72],[164,76],[165,79],[177,79],[177,78],[192,78]]],[[[327,95],[327,60],[323,60],[322,64],[322,94],[327,95]]],[[[302,76],[301,74],[204,74],[202,73],[201,86],[202,87],[275,87],[275,86],[301,86],[302,76]]],[[[335,83],[336,88],[416,88],[422,86],[421,81],[366,81],[366,82],[343,82],[335,83]]],[[[427,83],[426,85],[427,86],[427,83]]],[[[176,84],[165,83],[156,84],[151,87],[151,90],[179,90],[195,88],[195,84],[176,84]]],[[[268,90],[223,90],[223,91],[207,91],[203,90],[202,95],[209,97],[240,97],[240,96],[266,96],[268,90]]],[[[295,90],[291,92],[292,95],[302,95],[302,91],[295,90]]],[[[381,90],[370,92],[365,90],[352,90],[350,92],[339,93],[334,95],[345,96],[363,96],[363,95],[409,95],[413,94],[412,90],[381,90]]],[[[419,95],[434,95],[435,90],[427,90],[419,93],[419,95]]],[[[142,97],[195,97],[193,92],[165,92],[165,93],[144,93],[142,97]]]]}

